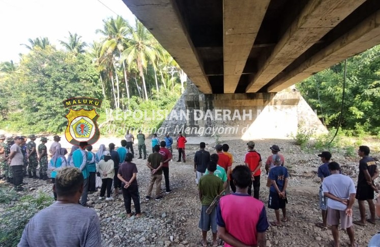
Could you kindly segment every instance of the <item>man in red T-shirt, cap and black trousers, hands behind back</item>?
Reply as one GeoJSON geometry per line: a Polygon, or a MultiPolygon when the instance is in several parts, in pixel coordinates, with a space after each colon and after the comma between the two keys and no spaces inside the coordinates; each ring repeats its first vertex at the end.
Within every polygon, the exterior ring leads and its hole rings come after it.
{"type": "Polygon", "coordinates": [[[251,179],[252,183],[249,184],[248,194],[252,195],[252,184],[253,184],[253,197],[258,199],[260,192],[260,174],[261,174],[261,156],[260,153],[254,150],[255,143],[253,141],[249,141],[248,152],[245,155],[244,163],[251,170],[251,179]]]}

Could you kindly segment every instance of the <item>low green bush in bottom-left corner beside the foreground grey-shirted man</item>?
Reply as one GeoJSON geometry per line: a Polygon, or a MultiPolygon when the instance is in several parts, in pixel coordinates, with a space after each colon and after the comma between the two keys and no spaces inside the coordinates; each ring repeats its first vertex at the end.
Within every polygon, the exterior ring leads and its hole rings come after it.
{"type": "Polygon", "coordinates": [[[23,196],[17,205],[8,207],[1,215],[0,245],[5,247],[17,246],[28,221],[52,202],[53,198],[50,195],[40,193],[37,197],[23,196]]]}

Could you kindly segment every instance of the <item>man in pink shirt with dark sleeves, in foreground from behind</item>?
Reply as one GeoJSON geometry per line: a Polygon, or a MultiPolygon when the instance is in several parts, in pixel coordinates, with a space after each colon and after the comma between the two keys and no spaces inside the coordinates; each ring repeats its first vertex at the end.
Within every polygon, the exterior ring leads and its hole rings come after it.
{"type": "Polygon", "coordinates": [[[219,238],[225,247],[266,246],[267,212],[264,203],[248,194],[251,171],[247,166],[236,166],[232,178],[236,193],[223,196],[216,211],[219,238]]]}

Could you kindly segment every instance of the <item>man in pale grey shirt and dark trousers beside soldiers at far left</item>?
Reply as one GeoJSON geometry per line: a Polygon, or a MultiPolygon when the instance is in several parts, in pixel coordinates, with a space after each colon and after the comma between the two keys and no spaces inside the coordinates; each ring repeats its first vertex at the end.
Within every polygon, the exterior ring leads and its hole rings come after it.
{"type": "Polygon", "coordinates": [[[21,143],[24,140],[21,136],[15,137],[15,144],[11,146],[11,153],[9,154],[8,164],[11,166],[13,172],[13,184],[16,191],[22,191],[21,187],[22,180],[24,177],[23,165],[24,165],[24,156],[21,152],[21,143]]]}

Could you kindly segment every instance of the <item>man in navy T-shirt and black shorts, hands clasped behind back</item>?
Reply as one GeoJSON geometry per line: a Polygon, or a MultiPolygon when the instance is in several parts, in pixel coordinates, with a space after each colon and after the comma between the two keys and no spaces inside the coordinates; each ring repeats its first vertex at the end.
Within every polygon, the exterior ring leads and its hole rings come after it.
{"type": "Polygon", "coordinates": [[[282,222],[287,222],[286,217],[286,187],[289,173],[287,169],[281,166],[281,158],[279,155],[273,157],[274,167],[269,171],[268,178],[271,181],[269,189],[268,207],[275,210],[276,221],[271,222],[272,226],[281,226],[282,222]],[[280,221],[280,208],[282,210],[282,220],[280,221]]]}

